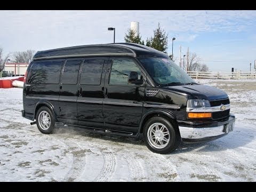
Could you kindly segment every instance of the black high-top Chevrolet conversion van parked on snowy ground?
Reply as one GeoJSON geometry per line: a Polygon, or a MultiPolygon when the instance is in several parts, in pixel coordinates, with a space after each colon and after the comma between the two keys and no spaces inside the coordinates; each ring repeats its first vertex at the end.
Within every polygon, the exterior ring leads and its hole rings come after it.
{"type": "Polygon", "coordinates": [[[199,85],[163,52],[115,43],[38,51],[24,80],[22,116],[50,134],[60,125],[138,137],[154,153],[233,131],[228,95],[199,85]]]}

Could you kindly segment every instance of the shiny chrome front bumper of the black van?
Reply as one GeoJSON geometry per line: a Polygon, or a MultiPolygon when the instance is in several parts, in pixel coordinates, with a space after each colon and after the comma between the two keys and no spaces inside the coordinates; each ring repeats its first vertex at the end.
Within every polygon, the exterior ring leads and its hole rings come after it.
{"type": "MultiPolygon", "coordinates": [[[[185,122],[182,122],[182,125],[184,124],[185,122]]],[[[191,126],[191,122],[188,122],[187,126],[179,126],[182,141],[205,142],[223,137],[230,131],[233,131],[233,128],[235,126],[235,116],[233,114],[230,114],[227,121],[212,123],[207,122],[203,124],[196,123],[194,124],[194,126],[191,126]],[[203,124],[206,126],[202,126],[203,124]]]]}

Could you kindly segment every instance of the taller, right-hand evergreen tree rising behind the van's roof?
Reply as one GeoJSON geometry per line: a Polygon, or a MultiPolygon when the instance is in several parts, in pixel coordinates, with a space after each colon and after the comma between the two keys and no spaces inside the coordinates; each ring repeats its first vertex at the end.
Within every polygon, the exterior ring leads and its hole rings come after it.
{"type": "Polygon", "coordinates": [[[164,29],[158,28],[154,30],[154,37],[147,38],[146,46],[152,47],[158,51],[165,52],[167,50],[168,35],[165,35],[164,29]]]}

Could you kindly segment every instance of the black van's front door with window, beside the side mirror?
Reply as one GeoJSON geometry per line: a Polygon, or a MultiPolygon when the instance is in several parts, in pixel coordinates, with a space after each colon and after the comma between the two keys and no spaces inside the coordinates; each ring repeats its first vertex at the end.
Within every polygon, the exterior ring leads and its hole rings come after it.
{"type": "Polygon", "coordinates": [[[103,116],[105,127],[122,131],[138,131],[143,112],[145,83],[129,82],[137,74],[146,79],[137,61],[132,57],[111,57],[105,77],[103,116]]]}

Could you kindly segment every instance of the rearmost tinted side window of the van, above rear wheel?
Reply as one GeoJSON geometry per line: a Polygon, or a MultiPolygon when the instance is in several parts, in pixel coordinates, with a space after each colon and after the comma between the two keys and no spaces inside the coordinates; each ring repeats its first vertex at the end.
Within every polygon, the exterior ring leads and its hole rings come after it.
{"type": "Polygon", "coordinates": [[[28,83],[58,84],[63,61],[35,61],[28,75],[28,83]]]}

